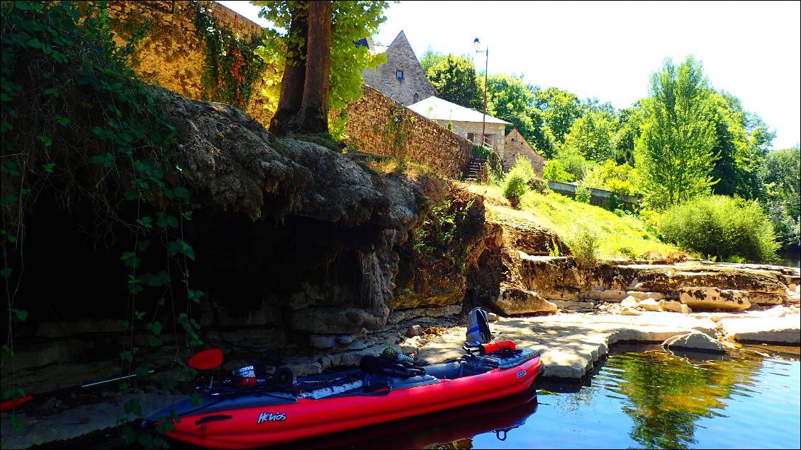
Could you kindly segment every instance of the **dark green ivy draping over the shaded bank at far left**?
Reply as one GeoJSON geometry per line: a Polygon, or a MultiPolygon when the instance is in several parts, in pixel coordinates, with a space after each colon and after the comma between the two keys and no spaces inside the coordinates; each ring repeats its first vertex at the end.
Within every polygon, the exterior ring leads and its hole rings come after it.
{"type": "MultiPolygon", "coordinates": [[[[126,330],[119,359],[129,373],[143,378],[150,369],[147,349],[163,344],[164,329],[186,332],[175,344],[186,345],[187,355],[202,344],[191,309],[203,296],[192,289],[187,269],[195,253],[185,227],[199,205],[181,185],[175,128],[152,88],[131,70],[129,58],[144,31],[126,46],[116,46],[107,2],[87,2],[80,9],[71,2],[2,2],[0,12],[0,275],[10,313],[2,364],[10,361],[14,367],[14,328],[30,319],[26,299],[18,294],[25,265],[36,264],[23,255],[34,205],[40,197],[52,197],[74,210],[83,200],[98,217],[91,233],[117,240],[119,230],[130,232],[133,245],[120,256],[129,313],[119,320],[126,330]],[[166,263],[143,267],[146,254],[148,261],[166,263]],[[159,321],[164,309],[175,312],[171,323],[159,321]],[[146,345],[136,343],[140,333],[146,333],[146,345]]],[[[2,392],[4,400],[26,395],[13,380],[10,386],[2,392]]],[[[130,414],[142,414],[135,400],[123,410],[121,423],[131,420],[130,414]]],[[[159,432],[169,426],[163,424],[159,432]]],[[[130,429],[123,433],[128,444],[131,439],[146,447],[161,442],[131,436],[130,429]]]]}

